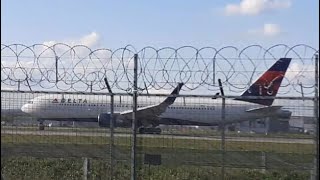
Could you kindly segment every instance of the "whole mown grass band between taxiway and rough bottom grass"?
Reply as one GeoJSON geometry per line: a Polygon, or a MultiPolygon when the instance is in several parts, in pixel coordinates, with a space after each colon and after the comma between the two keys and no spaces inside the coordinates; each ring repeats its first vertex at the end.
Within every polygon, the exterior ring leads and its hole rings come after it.
{"type": "MultiPolygon", "coordinates": [[[[5,156],[31,157],[110,157],[109,137],[2,135],[5,156]]],[[[138,138],[137,154],[159,154],[165,165],[221,166],[219,141],[172,138],[138,138]]],[[[116,137],[114,157],[130,160],[130,137],[116,137]]],[[[258,168],[262,152],[268,168],[310,169],[314,147],[308,144],[226,142],[225,165],[258,168]]]]}

